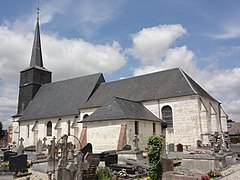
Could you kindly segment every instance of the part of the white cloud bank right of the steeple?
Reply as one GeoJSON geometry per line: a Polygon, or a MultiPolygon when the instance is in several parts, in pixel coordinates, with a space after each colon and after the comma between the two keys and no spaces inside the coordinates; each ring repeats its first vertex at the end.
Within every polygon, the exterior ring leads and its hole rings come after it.
{"type": "Polygon", "coordinates": [[[54,79],[89,73],[112,73],[125,64],[118,42],[93,45],[82,39],[43,36],[45,66],[54,72],[54,79]]]}

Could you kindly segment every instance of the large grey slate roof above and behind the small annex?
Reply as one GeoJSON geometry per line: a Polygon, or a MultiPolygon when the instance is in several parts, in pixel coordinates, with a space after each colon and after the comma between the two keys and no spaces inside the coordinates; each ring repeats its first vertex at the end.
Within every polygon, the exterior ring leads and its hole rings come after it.
{"type": "Polygon", "coordinates": [[[102,83],[80,108],[99,107],[112,97],[137,102],[196,95],[216,101],[179,68],[102,83]]]}

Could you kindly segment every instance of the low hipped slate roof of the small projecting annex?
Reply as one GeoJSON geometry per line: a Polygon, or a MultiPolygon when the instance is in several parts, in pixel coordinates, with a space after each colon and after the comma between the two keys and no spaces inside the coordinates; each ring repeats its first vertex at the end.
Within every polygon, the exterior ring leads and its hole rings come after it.
{"type": "Polygon", "coordinates": [[[113,97],[109,102],[98,108],[94,113],[83,119],[81,122],[121,119],[163,122],[141,103],[117,97],[113,97]]]}

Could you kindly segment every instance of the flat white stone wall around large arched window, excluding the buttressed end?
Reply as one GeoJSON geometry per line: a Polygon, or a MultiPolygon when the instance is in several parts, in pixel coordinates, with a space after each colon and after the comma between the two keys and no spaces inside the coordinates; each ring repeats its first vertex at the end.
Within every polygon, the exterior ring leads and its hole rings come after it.
{"type": "Polygon", "coordinates": [[[172,108],[173,127],[166,129],[166,143],[181,143],[190,148],[200,138],[199,105],[197,96],[161,99],[143,103],[157,117],[162,118],[164,106],[172,108]]]}

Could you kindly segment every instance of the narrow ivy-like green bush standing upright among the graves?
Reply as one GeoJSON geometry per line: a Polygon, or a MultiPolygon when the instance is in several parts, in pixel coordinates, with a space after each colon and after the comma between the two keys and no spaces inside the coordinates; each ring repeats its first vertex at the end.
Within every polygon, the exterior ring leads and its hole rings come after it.
{"type": "Polygon", "coordinates": [[[148,138],[148,175],[151,180],[162,179],[162,166],[160,163],[161,153],[164,148],[164,138],[157,135],[152,135],[148,138]]]}

